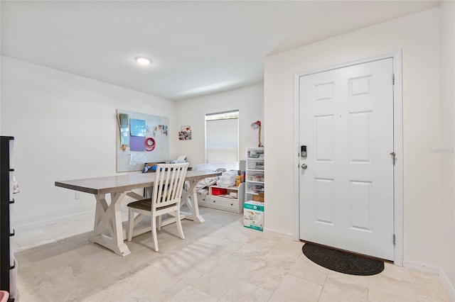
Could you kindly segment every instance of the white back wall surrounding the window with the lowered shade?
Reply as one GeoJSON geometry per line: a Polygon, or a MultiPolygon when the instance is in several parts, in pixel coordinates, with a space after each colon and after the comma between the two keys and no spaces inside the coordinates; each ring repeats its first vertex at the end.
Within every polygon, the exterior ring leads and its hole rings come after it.
{"type": "MultiPolygon", "coordinates": [[[[257,146],[257,130],[251,123],[264,117],[264,85],[256,84],[240,89],[178,101],[176,120],[191,125],[192,139],[179,140],[176,149],[186,155],[191,166],[205,162],[205,114],[239,110],[239,158],[245,160],[247,147],[257,146]]],[[[262,143],[267,123],[263,123],[262,143]]],[[[180,125],[178,125],[180,126],[180,125]]]]}

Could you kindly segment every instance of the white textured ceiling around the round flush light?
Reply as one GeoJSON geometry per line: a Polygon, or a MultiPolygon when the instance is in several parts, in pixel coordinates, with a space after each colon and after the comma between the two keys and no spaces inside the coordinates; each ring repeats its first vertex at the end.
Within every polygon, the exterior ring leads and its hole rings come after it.
{"type": "Polygon", "coordinates": [[[264,58],[439,1],[1,1],[1,55],[180,100],[263,80],[264,58]],[[135,57],[153,62],[140,67],[135,57]]]}

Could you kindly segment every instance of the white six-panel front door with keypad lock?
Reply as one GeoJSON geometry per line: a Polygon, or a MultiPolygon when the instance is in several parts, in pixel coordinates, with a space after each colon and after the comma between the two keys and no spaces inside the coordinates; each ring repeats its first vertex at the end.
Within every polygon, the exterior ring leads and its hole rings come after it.
{"type": "Polygon", "coordinates": [[[393,260],[392,63],[300,77],[301,240],[393,260]]]}

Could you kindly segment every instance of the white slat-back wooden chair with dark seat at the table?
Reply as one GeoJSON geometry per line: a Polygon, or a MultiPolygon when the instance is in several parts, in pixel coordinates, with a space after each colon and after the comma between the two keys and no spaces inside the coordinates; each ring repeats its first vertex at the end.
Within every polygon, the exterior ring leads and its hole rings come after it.
{"type": "MultiPolygon", "coordinates": [[[[188,162],[184,164],[158,164],[156,177],[151,198],[134,201],[128,206],[128,230],[127,240],[131,241],[133,236],[145,233],[139,231],[134,233],[133,229],[146,216],[151,217],[151,234],[154,238],[155,251],[158,252],[158,240],[156,239],[156,218],[159,219],[158,230],[161,230],[161,216],[170,213],[176,217],[178,233],[181,239],[185,239],[180,218],[180,203],[185,184],[188,162]],[[134,217],[134,213],[138,215],[134,217]]],[[[147,230],[149,230],[148,228],[147,230]]]]}

